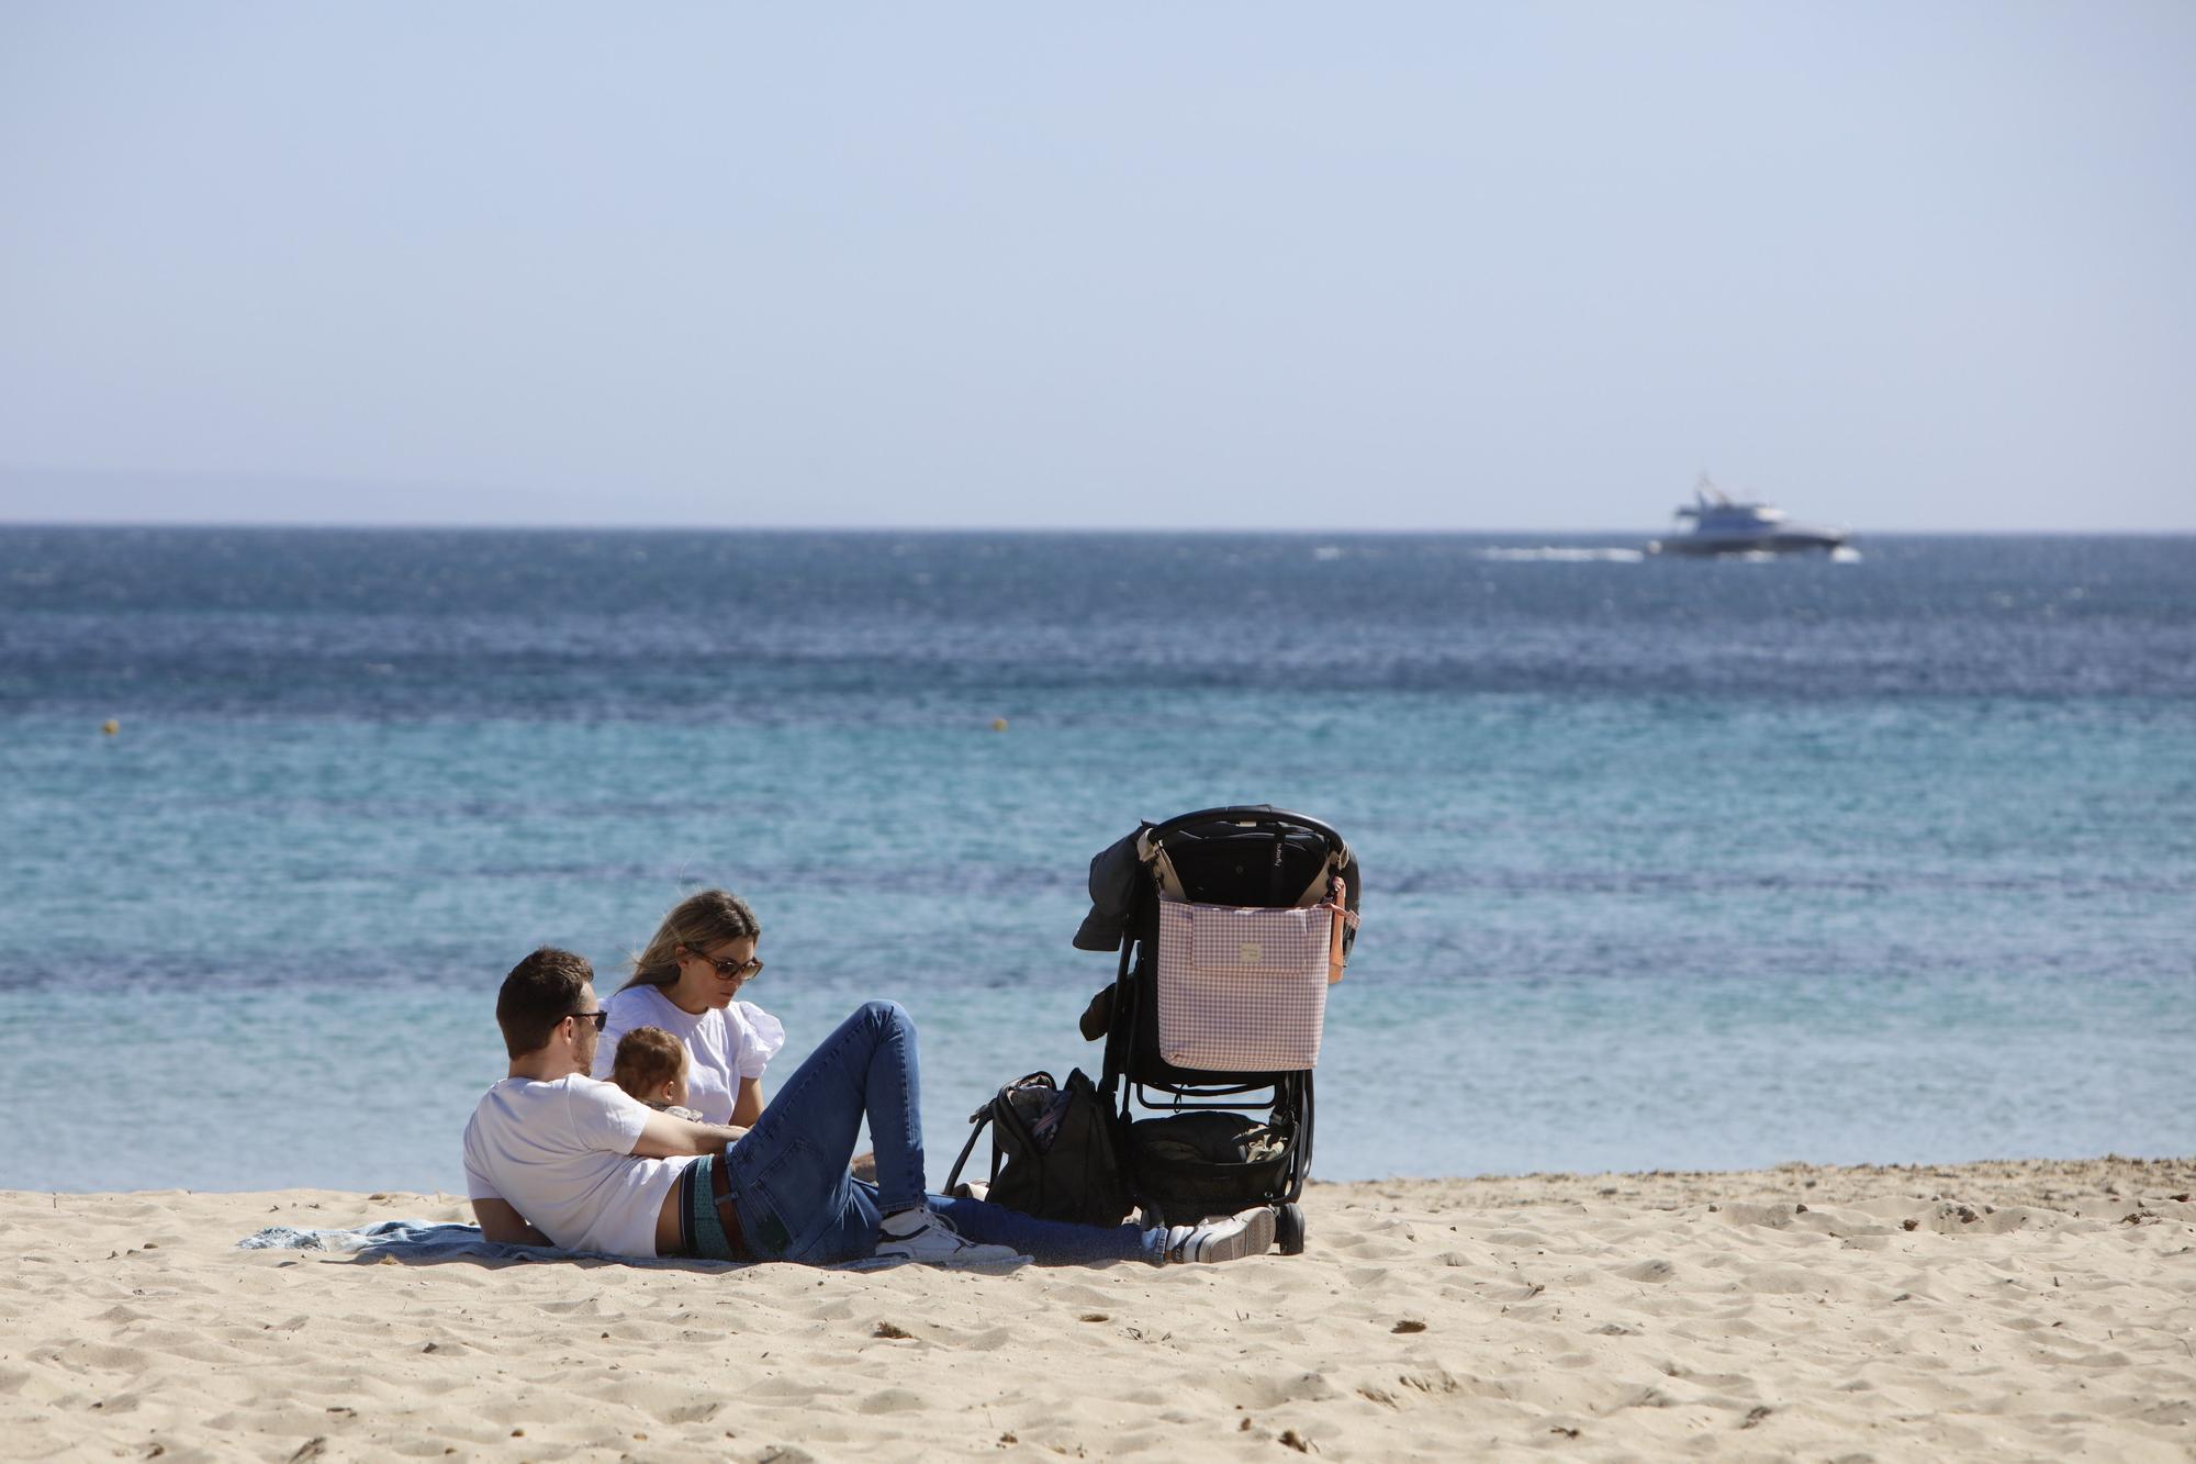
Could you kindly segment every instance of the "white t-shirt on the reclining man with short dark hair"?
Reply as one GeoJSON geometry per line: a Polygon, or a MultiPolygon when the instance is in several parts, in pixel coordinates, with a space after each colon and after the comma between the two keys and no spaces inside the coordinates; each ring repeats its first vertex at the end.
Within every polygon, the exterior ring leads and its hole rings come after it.
{"type": "Polygon", "coordinates": [[[466,1194],[503,1200],[567,1251],[654,1255],[663,1196],[694,1161],[637,1156],[648,1114],[580,1073],[505,1077],[466,1123],[466,1194]]]}

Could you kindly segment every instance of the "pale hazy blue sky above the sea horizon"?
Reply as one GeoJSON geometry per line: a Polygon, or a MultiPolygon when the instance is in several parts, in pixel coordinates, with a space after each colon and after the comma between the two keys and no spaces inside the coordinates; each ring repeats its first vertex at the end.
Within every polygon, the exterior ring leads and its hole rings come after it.
{"type": "Polygon", "coordinates": [[[0,519],[2196,530],[2196,4],[0,7],[0,519]]]}

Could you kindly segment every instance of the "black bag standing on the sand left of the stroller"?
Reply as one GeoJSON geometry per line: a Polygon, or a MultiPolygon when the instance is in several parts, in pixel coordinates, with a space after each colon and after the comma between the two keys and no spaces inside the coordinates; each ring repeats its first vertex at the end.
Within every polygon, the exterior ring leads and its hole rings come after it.
{"type": "Polygon", "coordinates": [[[1113,1154],[1111,1117],[1083,1068],[1067,1075],[1065,1088],[1052,1082],[1052,1073],[1019,1077],[968,1114],[975,1128],[953,1161],[946,1194],[955,1191],[975,1141],[990,1128],[986,1200],[1039,1220],[1120,1224],[1129,1213],[1129,1191],[1113,1154]]]}

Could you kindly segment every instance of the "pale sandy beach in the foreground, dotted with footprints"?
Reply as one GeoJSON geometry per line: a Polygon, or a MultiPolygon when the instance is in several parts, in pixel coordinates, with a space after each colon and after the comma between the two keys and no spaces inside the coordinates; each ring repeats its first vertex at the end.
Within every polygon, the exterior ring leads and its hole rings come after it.
{"type": "Polygon", "coordinates": [[[0,1196],[11,1457],[2196,1457],[2196,1158],[1313,1185],[1228,1266],[358,1264],[0,1196]]]}

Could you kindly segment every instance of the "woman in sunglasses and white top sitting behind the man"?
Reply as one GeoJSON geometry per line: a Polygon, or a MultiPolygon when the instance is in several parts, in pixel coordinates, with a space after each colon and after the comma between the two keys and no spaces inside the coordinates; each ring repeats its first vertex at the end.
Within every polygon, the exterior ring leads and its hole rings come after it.
{"type": "Polygon", "coordinates": [[[685,1042],[692,1071],[687,1108],[705,1123],[753,1128],[762,1117],[762,1073],[786,1044],[786,1029],[753,1002],[733,1000],[762,972],[762,925],[729,890],[703,890],[672,906],[632,978],[610,996],[593,1077],[608,1077],[617,1040],[635,1027],[661,1027],[685,1042]]]}

